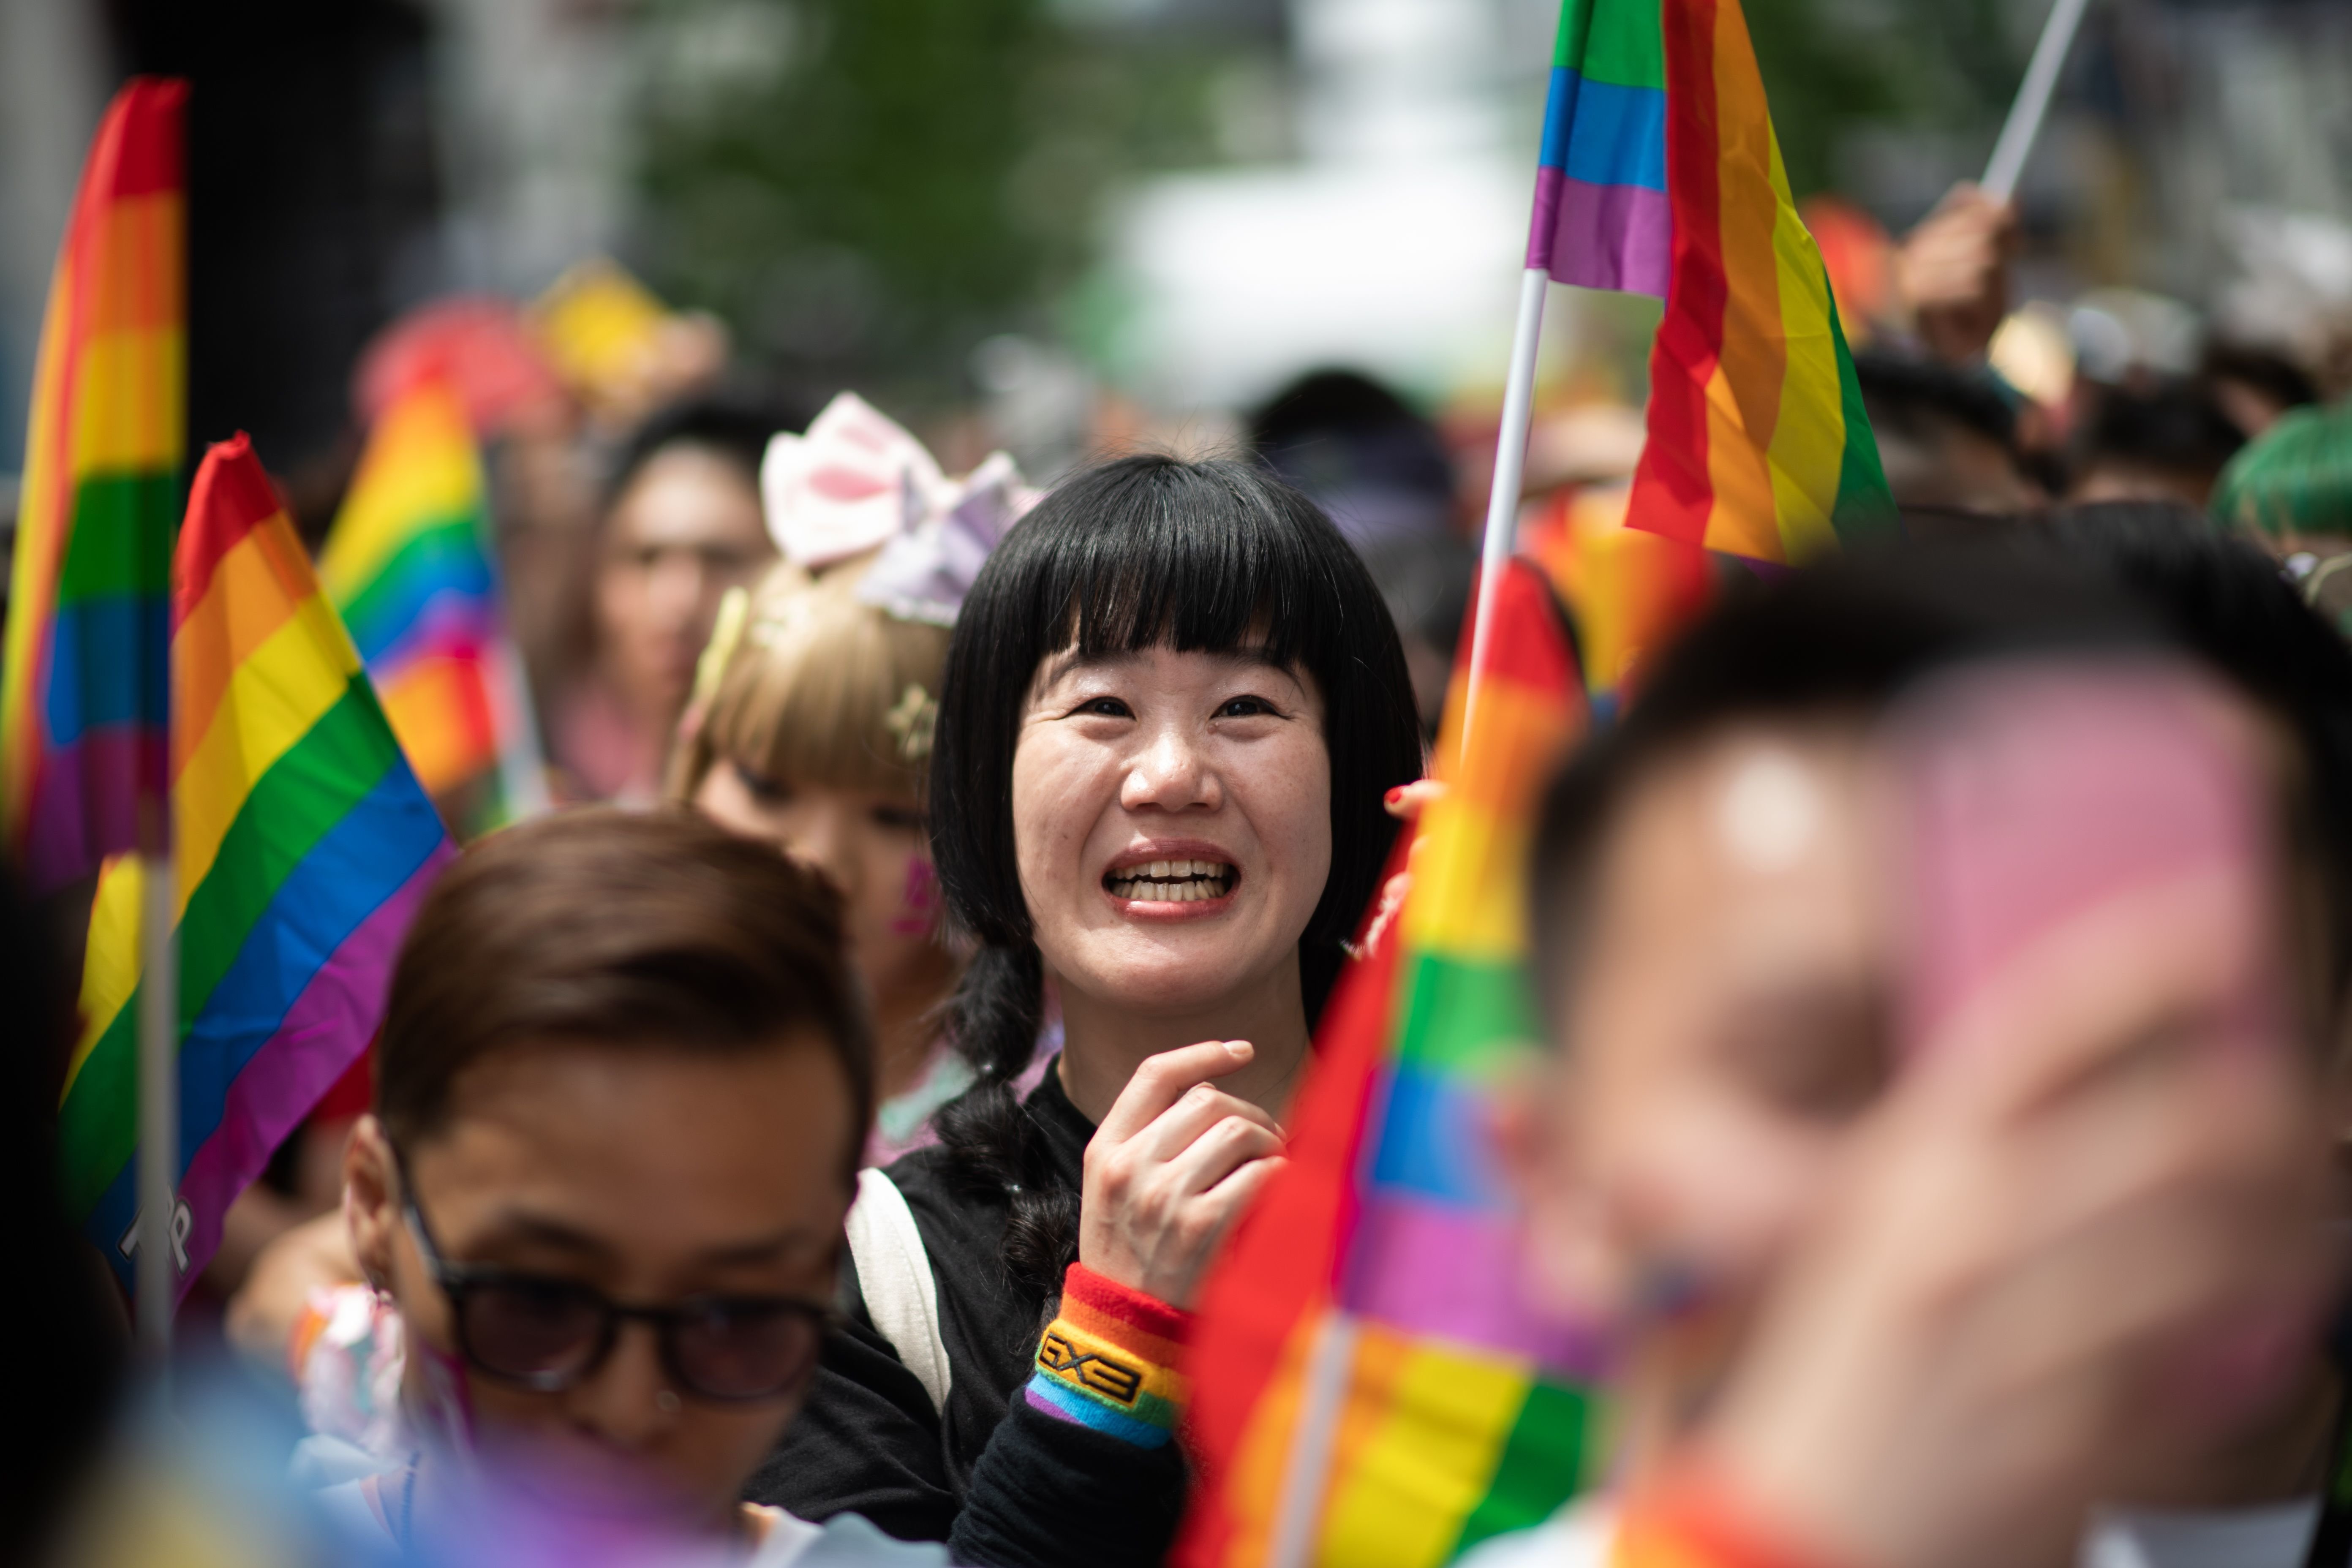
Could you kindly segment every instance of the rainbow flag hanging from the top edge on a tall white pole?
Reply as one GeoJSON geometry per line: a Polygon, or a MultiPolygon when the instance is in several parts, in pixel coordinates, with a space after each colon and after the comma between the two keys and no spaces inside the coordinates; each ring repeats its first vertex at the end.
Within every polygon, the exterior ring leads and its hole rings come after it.
{"type": "Polygon", "coordinates": [[[1762,562],[1893,527],[1738,0],[1566,0],[1526,263],[1665,299],[1632,527],[1762,562]]]}

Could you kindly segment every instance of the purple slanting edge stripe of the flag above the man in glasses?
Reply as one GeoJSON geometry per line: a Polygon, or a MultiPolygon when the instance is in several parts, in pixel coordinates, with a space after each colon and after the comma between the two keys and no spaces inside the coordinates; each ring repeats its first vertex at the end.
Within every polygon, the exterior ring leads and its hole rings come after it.
{"type": "Polygon", "coordinates": [[[179,1197],[188,1206],[188,1272],[179,1276],[183,1295],[221,1244],[221,1215],[261,1175],[270,1152],[303,1124],[320,1095],[367,1051],[374,1023],[383,1016],[383,987],[393,978],[400,940],[454,853],[447,844],[437,849],[343,938],[287,1009],[278,1032],[228,1086],[221,1124],[179,1178],[179,1197]]]}

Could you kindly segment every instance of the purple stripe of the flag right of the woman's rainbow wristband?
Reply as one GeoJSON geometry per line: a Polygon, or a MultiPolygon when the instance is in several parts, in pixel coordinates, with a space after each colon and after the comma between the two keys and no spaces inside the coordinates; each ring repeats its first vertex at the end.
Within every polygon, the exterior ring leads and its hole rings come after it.
{"type": "Polygon", "coordinates": [[[1541,1316],[1524,1300],[1526,1248],[1512,1215],[1374,1192],[1348,1255],[1343,1307],[1409,1333],[1531,1356],[1590,1375],[1602,1340],[1541,1316]]]}

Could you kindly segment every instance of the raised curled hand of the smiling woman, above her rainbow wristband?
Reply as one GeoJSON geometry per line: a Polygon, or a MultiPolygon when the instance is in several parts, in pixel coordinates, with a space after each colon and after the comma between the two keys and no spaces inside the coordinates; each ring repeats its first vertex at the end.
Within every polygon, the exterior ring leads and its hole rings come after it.
{"type": "Polygon", "coordinates": [[[1247,1039],[1204,1039],[1136,1067],[1087,1145],[1080,1262],[1192,1307],[1225,1227],[1282,1168],[1275,1119],[1211,1086],[1251,1056],[1247,1039]]]}

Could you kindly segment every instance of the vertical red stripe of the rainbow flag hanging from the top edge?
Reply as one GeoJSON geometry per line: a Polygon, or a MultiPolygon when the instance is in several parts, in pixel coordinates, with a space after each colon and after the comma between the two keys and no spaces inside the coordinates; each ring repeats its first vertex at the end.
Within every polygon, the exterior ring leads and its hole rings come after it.
{"type": "Polygon", "coordinates": [[[1649,353],[1649,444],[1628,522],[1691,545],[1708,541],[1708,381],[1722,357],[1722,132],[1715,115],[1715,0],[1663,0],[1665,188],[1675,205],[1675,280],[1649,353]]]}

